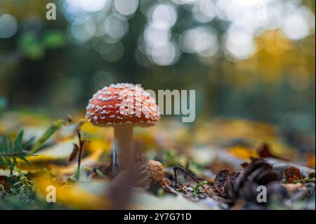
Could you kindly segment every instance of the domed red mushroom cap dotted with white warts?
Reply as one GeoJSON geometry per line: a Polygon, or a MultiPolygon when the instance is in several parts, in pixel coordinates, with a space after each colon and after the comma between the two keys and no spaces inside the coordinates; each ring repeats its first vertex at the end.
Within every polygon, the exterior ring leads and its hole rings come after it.
{"type": "Polygon", "coordinates": [[[160,119],[154,98],[133,84],[111,84],[96,92],[86,107],[96,126],[153,126],[160,119]]]}

